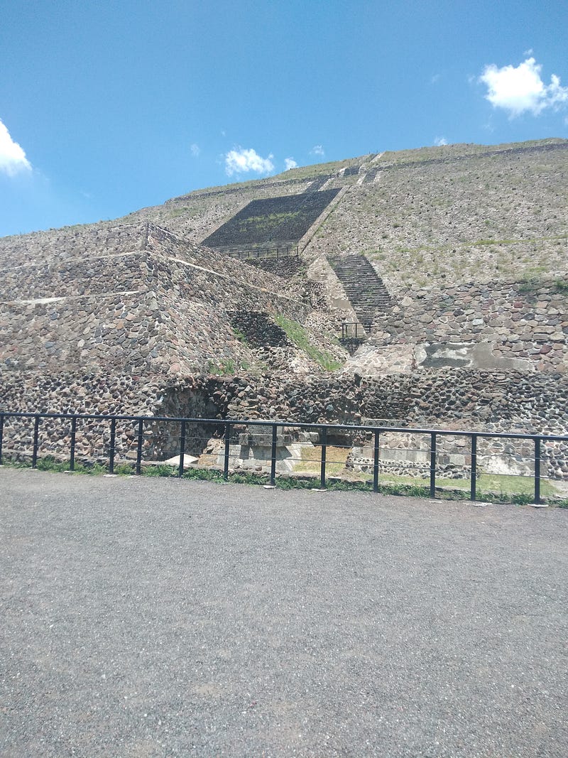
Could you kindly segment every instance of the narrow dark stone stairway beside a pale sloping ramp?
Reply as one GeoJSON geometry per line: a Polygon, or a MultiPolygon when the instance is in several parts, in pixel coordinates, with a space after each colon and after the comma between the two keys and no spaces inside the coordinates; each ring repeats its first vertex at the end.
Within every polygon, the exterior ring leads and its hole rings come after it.
{"type": "Polygon", "coordinates": [[[392,305],[389,291],[364,255],[330,255],[329,263],[368,334],[376,313],[392,305]]]}

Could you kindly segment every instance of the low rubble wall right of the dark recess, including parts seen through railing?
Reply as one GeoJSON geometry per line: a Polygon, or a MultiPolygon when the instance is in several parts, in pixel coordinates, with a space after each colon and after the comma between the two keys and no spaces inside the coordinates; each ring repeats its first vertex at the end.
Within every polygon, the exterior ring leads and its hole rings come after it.
{"type": "MultiPolygon", "coordinates": [[[[299,382],[265,375],[249,378],[229,392],[230,418],[273,418],[304,423],[365,424],[376,426],[495,431],[519,434],[568,434],[568,379],[565,374],[531,374],[512,371],[425,369],[415,374],[389,374],[377,381],[361,377],[330,377],[299,382]],[[244,385],[244,386],[243,386],[244,385]]],[[[440,455],[448,475],[464,475],[470,459],[460,449],[463,440],[441,437],[440,455]],[[464,457],[466,456],[466,457],[464,457]],[[453,474],[452,474],[453,472],[453,474]]],[[[399,468],[426,471],[427,465],[408,454],[417,440],[401,441],[399,468]],[[410,464],[409,464],[410,462],[410,464]]],[[[349,445],[364,446],[351,437],[349,445]]],[[[429,436],[418,449],[424,452],[429,436]]],[[[532,442],[492,440],[479,443],[486,456],[485,470],[527,473],[532,465],[532,442]]],[[[364,453],[358,457],[365,458],[364,453]]],[[[568,444],[550,443],[542,453],[543,474],[568,478],[568,444]]],[[[357,457],[357,456],[355,456],[357,457]]],[[[360,461],[359,461],[360,462],[360,461]]],[[[363,462],[364,463],[364,462],[363,462]]],[[[368,464],[368,462],[367,462],[368,464]]],[[[480,459],[481,465],[481,459],[480,459]]],[[[392,469],[392,466],[391,466],[392,469]]]]}

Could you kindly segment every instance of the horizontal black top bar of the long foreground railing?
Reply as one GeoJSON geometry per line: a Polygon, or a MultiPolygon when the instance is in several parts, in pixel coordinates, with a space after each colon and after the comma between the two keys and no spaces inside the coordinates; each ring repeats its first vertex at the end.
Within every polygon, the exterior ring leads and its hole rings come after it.
{"type": "Polygon", "coordinates": [[[259,427],[271,427],[276,424],[280,428],[291,429],[312,429],[314,431],[320,430],[325,426],[328,431],[353,431],[353,432],[395,432],[396,434],[435,434],[445,435],[446,437],[471,437],[472,434],[476,434],[477,437],[485,437],[488,439],[500,439],[500,440],[554,440],[556,441],[568,441],[568,435],[566,434],[520,434],[518,432],[495,432],[495,431],[467,431],[456,429],[432,429],[432,428],[410,428],[410,427],[385,427],[385,426],[367,426],[357,424],[316,424],[307,423],[305,421],[268,421],[264,419],[255,418],[191,418],[189,416],[141,416],[141,415],[111,415],[101,413],[34,413],[31,411],[2,411],[5,419],[8,418],[84,418],[93,419],[97,421],[110,421],[115,418],[117,421],[172,421],[179,423],[186,421],[189,424],[208,424],[213,426],[259,426],[259,427]]]}

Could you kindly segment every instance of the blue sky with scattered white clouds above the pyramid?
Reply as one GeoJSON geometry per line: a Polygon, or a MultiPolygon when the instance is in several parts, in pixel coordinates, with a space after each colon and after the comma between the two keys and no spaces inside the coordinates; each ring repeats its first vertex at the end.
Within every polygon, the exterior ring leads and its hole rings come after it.
{"type": "Polygon", "coordinates": [[[566,30],[566,0],[0,0],[0,236],[293,163],[566,138],[566,30]]]}

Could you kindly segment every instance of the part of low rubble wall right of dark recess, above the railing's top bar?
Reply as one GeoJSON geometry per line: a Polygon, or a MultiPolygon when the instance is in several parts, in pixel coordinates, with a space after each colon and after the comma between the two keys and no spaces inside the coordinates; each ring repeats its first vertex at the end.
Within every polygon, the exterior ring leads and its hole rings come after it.
{"type": "Polygon", "coordinates": [[[248,384],[229,404],[233,418],[308,423],[379,423],[433,428],[566,434],[565,374],[425,369],[377,380],[332,376],[295,381],[282,375],[248,384]]]}

